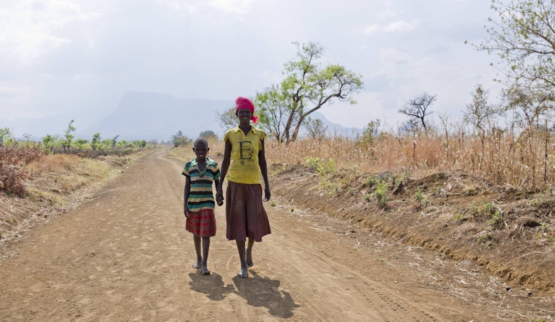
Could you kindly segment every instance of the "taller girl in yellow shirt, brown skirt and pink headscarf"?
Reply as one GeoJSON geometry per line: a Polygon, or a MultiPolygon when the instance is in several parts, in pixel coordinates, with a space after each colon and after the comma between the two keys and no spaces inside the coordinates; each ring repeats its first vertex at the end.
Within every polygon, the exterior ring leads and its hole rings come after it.
{"type": "Polygon", "coordinates": [[[216,200],[223,201],[223,180],[228,178],[226,190],[226,237],[235,240],[239,252],[241,271],[238,277],[248,277],[248,267],[253,266],[254,242],[271,233],[268,215],[262,201],[270,200],[268,166],[264,153],[264,131],[253,127],[256,123],[254,104],[248,98],[236,100],[236,116],[239,125],[223,136],[226,149],[221,163],[221,176],[216,188],[216,200]],[[228,173],[229,172],[229,173],[228,173]],[[264,199],[262,198],[262,175],[264,199]],[[248,245],[245,249],[245,241],[248,245]]]}

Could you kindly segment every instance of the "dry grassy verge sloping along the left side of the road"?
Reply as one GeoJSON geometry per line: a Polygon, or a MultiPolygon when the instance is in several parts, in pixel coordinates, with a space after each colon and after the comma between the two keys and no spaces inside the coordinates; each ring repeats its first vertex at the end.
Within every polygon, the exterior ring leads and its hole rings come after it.
{"type": "Polygon", "coordinates": [[[129,156],[88,159],[74,154],[41,156],[29,163],[25,198],[0,193],[0,242],[56,213],[71,210],[121,173],[129,156]]]}

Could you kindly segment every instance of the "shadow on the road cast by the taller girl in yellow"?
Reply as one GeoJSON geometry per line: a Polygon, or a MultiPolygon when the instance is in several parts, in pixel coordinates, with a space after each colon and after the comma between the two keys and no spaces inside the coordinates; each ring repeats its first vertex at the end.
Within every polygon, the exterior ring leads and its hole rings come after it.
{"type": "Polygon", "coordinates": [[[273,316],[280,318],[293,316],[293,309],[300,306],[293,301],[289,293],[280,291],[280,281],[268,277],[260,278],[253,271],[249,273],[251,277],[248,279],[233,277],[237,294],[243,296],[249,305],[265,306],[273,316]]]}

